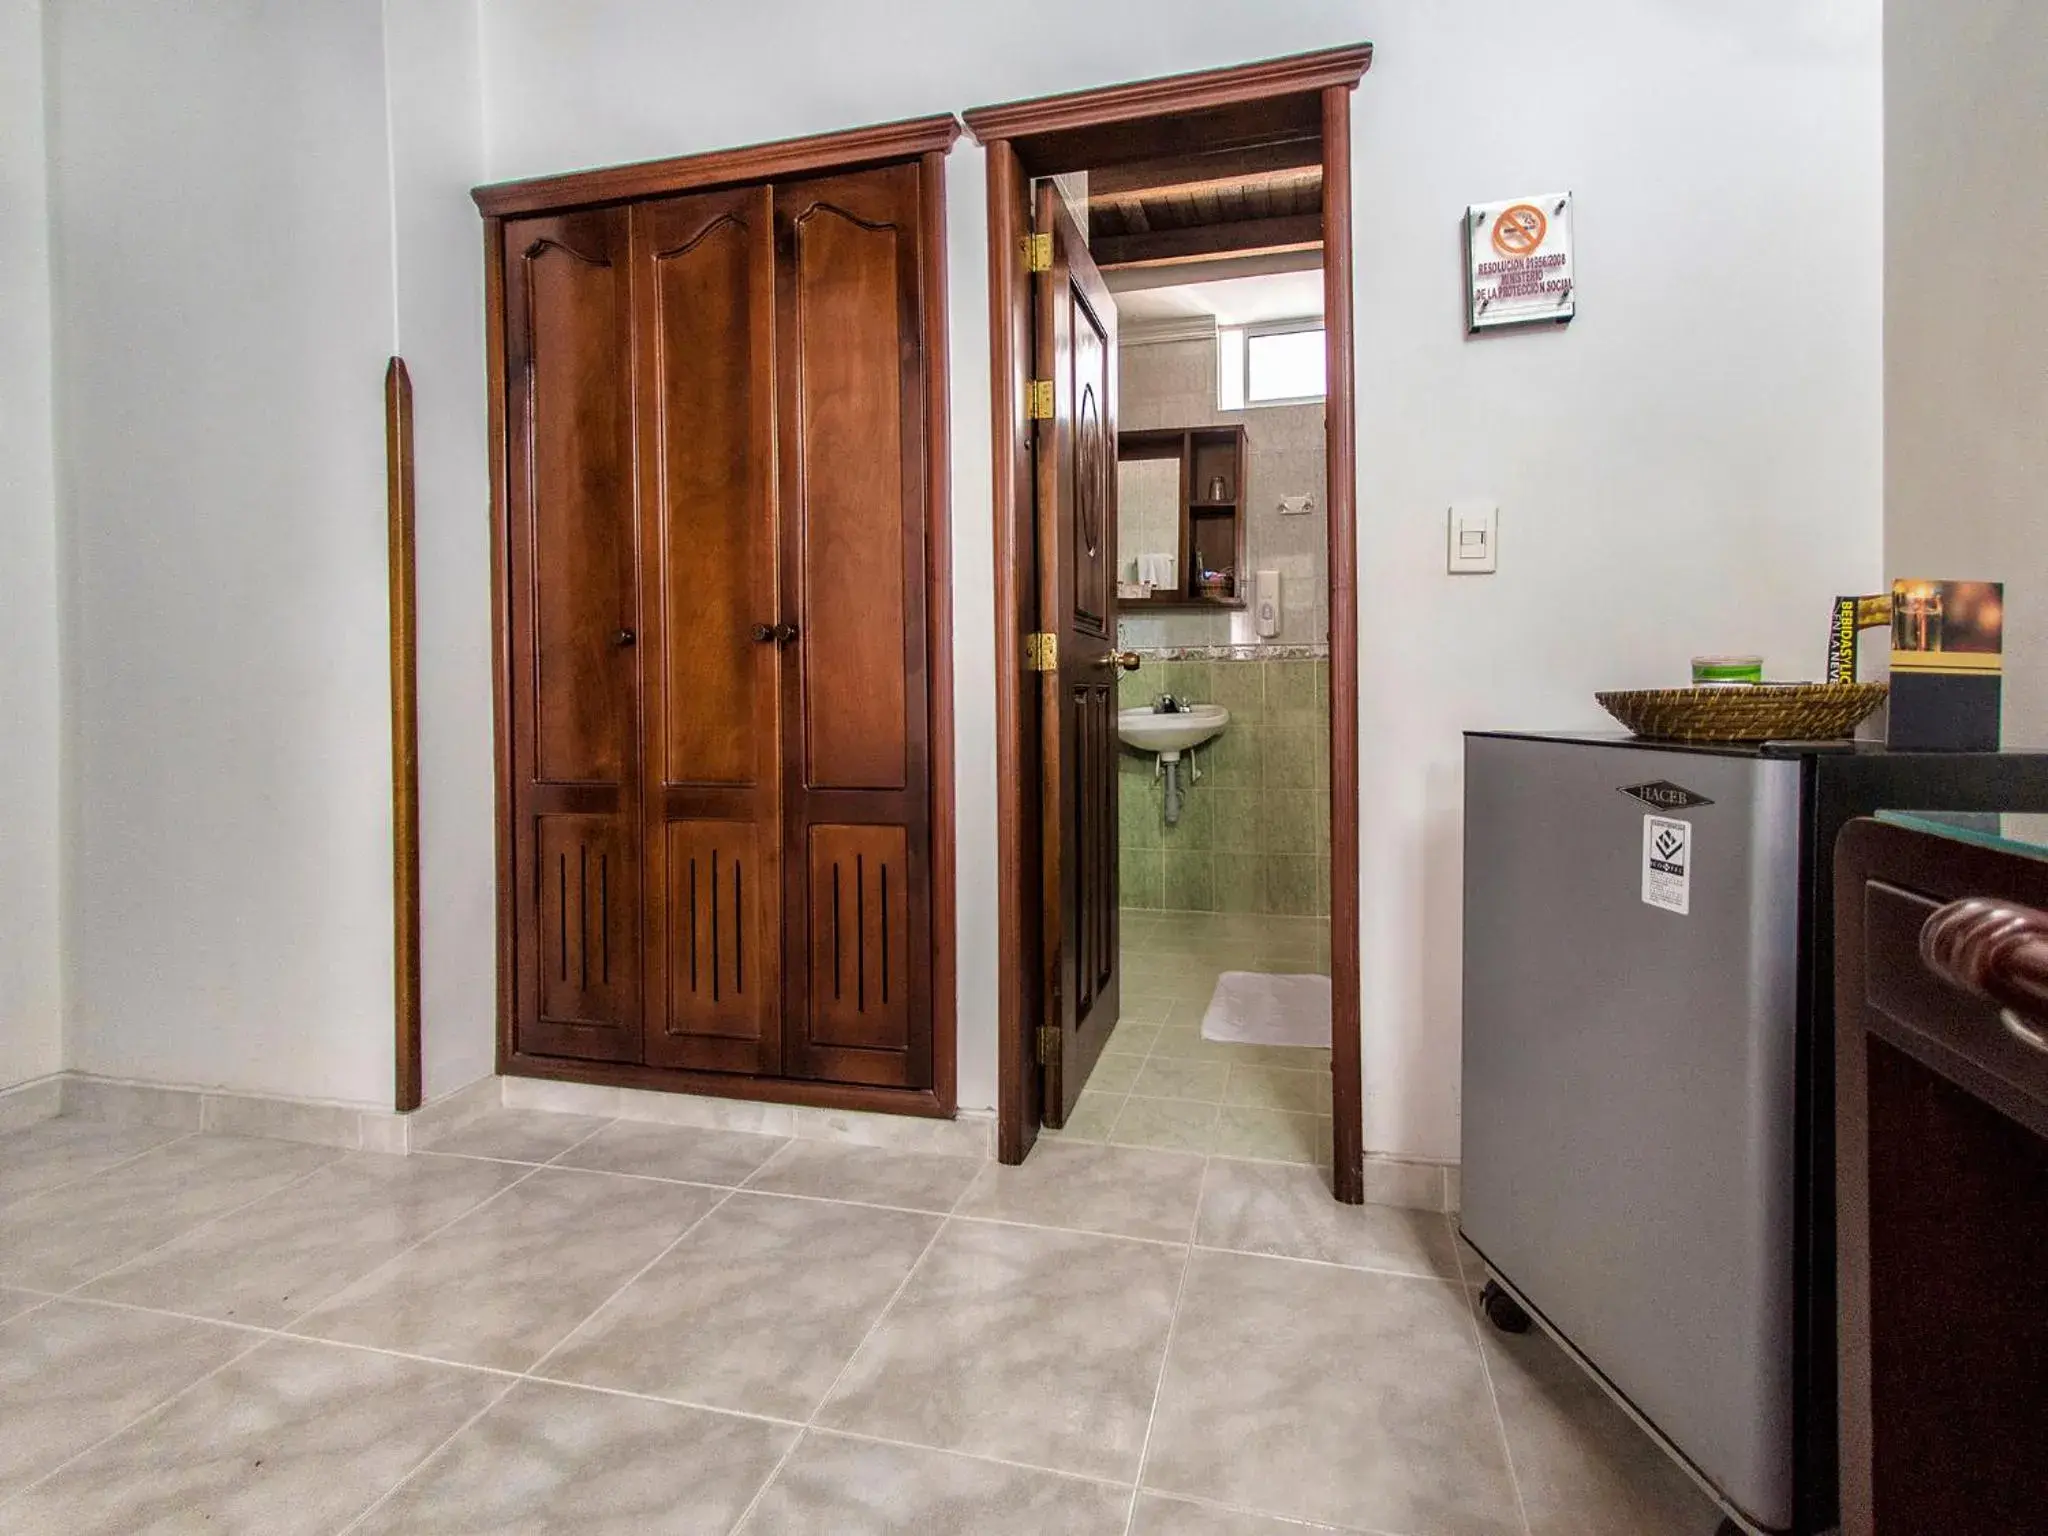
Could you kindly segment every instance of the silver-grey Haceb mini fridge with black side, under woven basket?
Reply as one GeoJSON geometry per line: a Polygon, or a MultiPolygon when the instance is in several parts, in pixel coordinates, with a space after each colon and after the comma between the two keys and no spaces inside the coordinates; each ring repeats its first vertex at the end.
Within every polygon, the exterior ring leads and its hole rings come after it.
{"type": "Polygon", "coordinates": [[[1835,1522],[1835,836],[2048,756],[1470,733],[1460,1229],[1745,1526],[1835,1522]]]}

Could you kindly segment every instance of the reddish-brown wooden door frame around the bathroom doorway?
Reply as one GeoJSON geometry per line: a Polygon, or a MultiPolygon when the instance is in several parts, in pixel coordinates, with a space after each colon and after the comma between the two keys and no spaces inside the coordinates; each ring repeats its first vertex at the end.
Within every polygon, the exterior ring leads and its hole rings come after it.
{"type": "MultiPolygon", "coordinates": [[[[1040,825],[1036,819],[1034,674],[1024,637],[1036,629],[1036,543],[1030,424],[1030,281],[1020,244],[1030,229],[1030,178],[1087,166],[1118,139],[1186,143],[1200,121],[1243,115],[1245,133],[1282,115],[1315,121],[1323,139],[1325,508],[1329,510],[1329,946],[1333,1192],[1366,1198],[1364,1077],[1358,1006],[1358,522],[1352,356],[1352,90],[1372,66],[1370,43],[1229,70],[1143,80],[965,113],[989,170],[989,395],[995,479],[995,854],[997,889],[997,1155],[1018,1163],[1040,1116],[1032,1040],[1038,977],[1040,825]],[[1190,123],[1190,119],[1196,119],[1190,123]],[[1147,133],[1147,127],[1153,131],[1147,133]]],[[[1124,152],[1126,160],[1137,158],[1124,152]]],[[[1106,160],[1098,160],[1106,164],[1106,160]]]]}

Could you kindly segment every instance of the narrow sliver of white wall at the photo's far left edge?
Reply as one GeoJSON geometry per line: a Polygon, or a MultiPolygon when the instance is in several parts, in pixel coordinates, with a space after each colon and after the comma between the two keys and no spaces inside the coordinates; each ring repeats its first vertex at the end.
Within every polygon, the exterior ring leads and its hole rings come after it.
{"type": "Polygon", "coordinates": [[[41,0],[0,2],[0,1087],[57,1071],[57,524],[41,0]]]}

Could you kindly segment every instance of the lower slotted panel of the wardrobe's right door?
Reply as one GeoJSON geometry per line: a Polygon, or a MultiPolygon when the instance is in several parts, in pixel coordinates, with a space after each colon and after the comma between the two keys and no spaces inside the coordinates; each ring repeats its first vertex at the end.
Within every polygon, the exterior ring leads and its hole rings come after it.
{"type": "Polygon", "coordinates": [[[903,827],[811,827],[813,1044],[909,1049],[909,840],[903,827]]]}

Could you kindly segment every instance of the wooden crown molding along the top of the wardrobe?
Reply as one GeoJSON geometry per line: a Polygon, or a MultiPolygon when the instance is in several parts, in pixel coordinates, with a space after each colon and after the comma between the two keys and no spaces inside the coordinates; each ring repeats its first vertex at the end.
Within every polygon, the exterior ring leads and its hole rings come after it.
{"type": "Polygon", "coordinates": [[[520,182],[477,186],[471,197],[487,219],[520,213],[625,203],[666,193],[694,193],[705,186],[760,182],[813,170],[842,170],[879,160],[913,160],[944,154],[961,137],[961,121],[950,113],[909,117],[899,123],[813,133],[803,139],[750,143],[739,150],[711,150],[672,160],[641,160],[631,166],[578,170],[565,176],[535,176],[520,182]]]}

